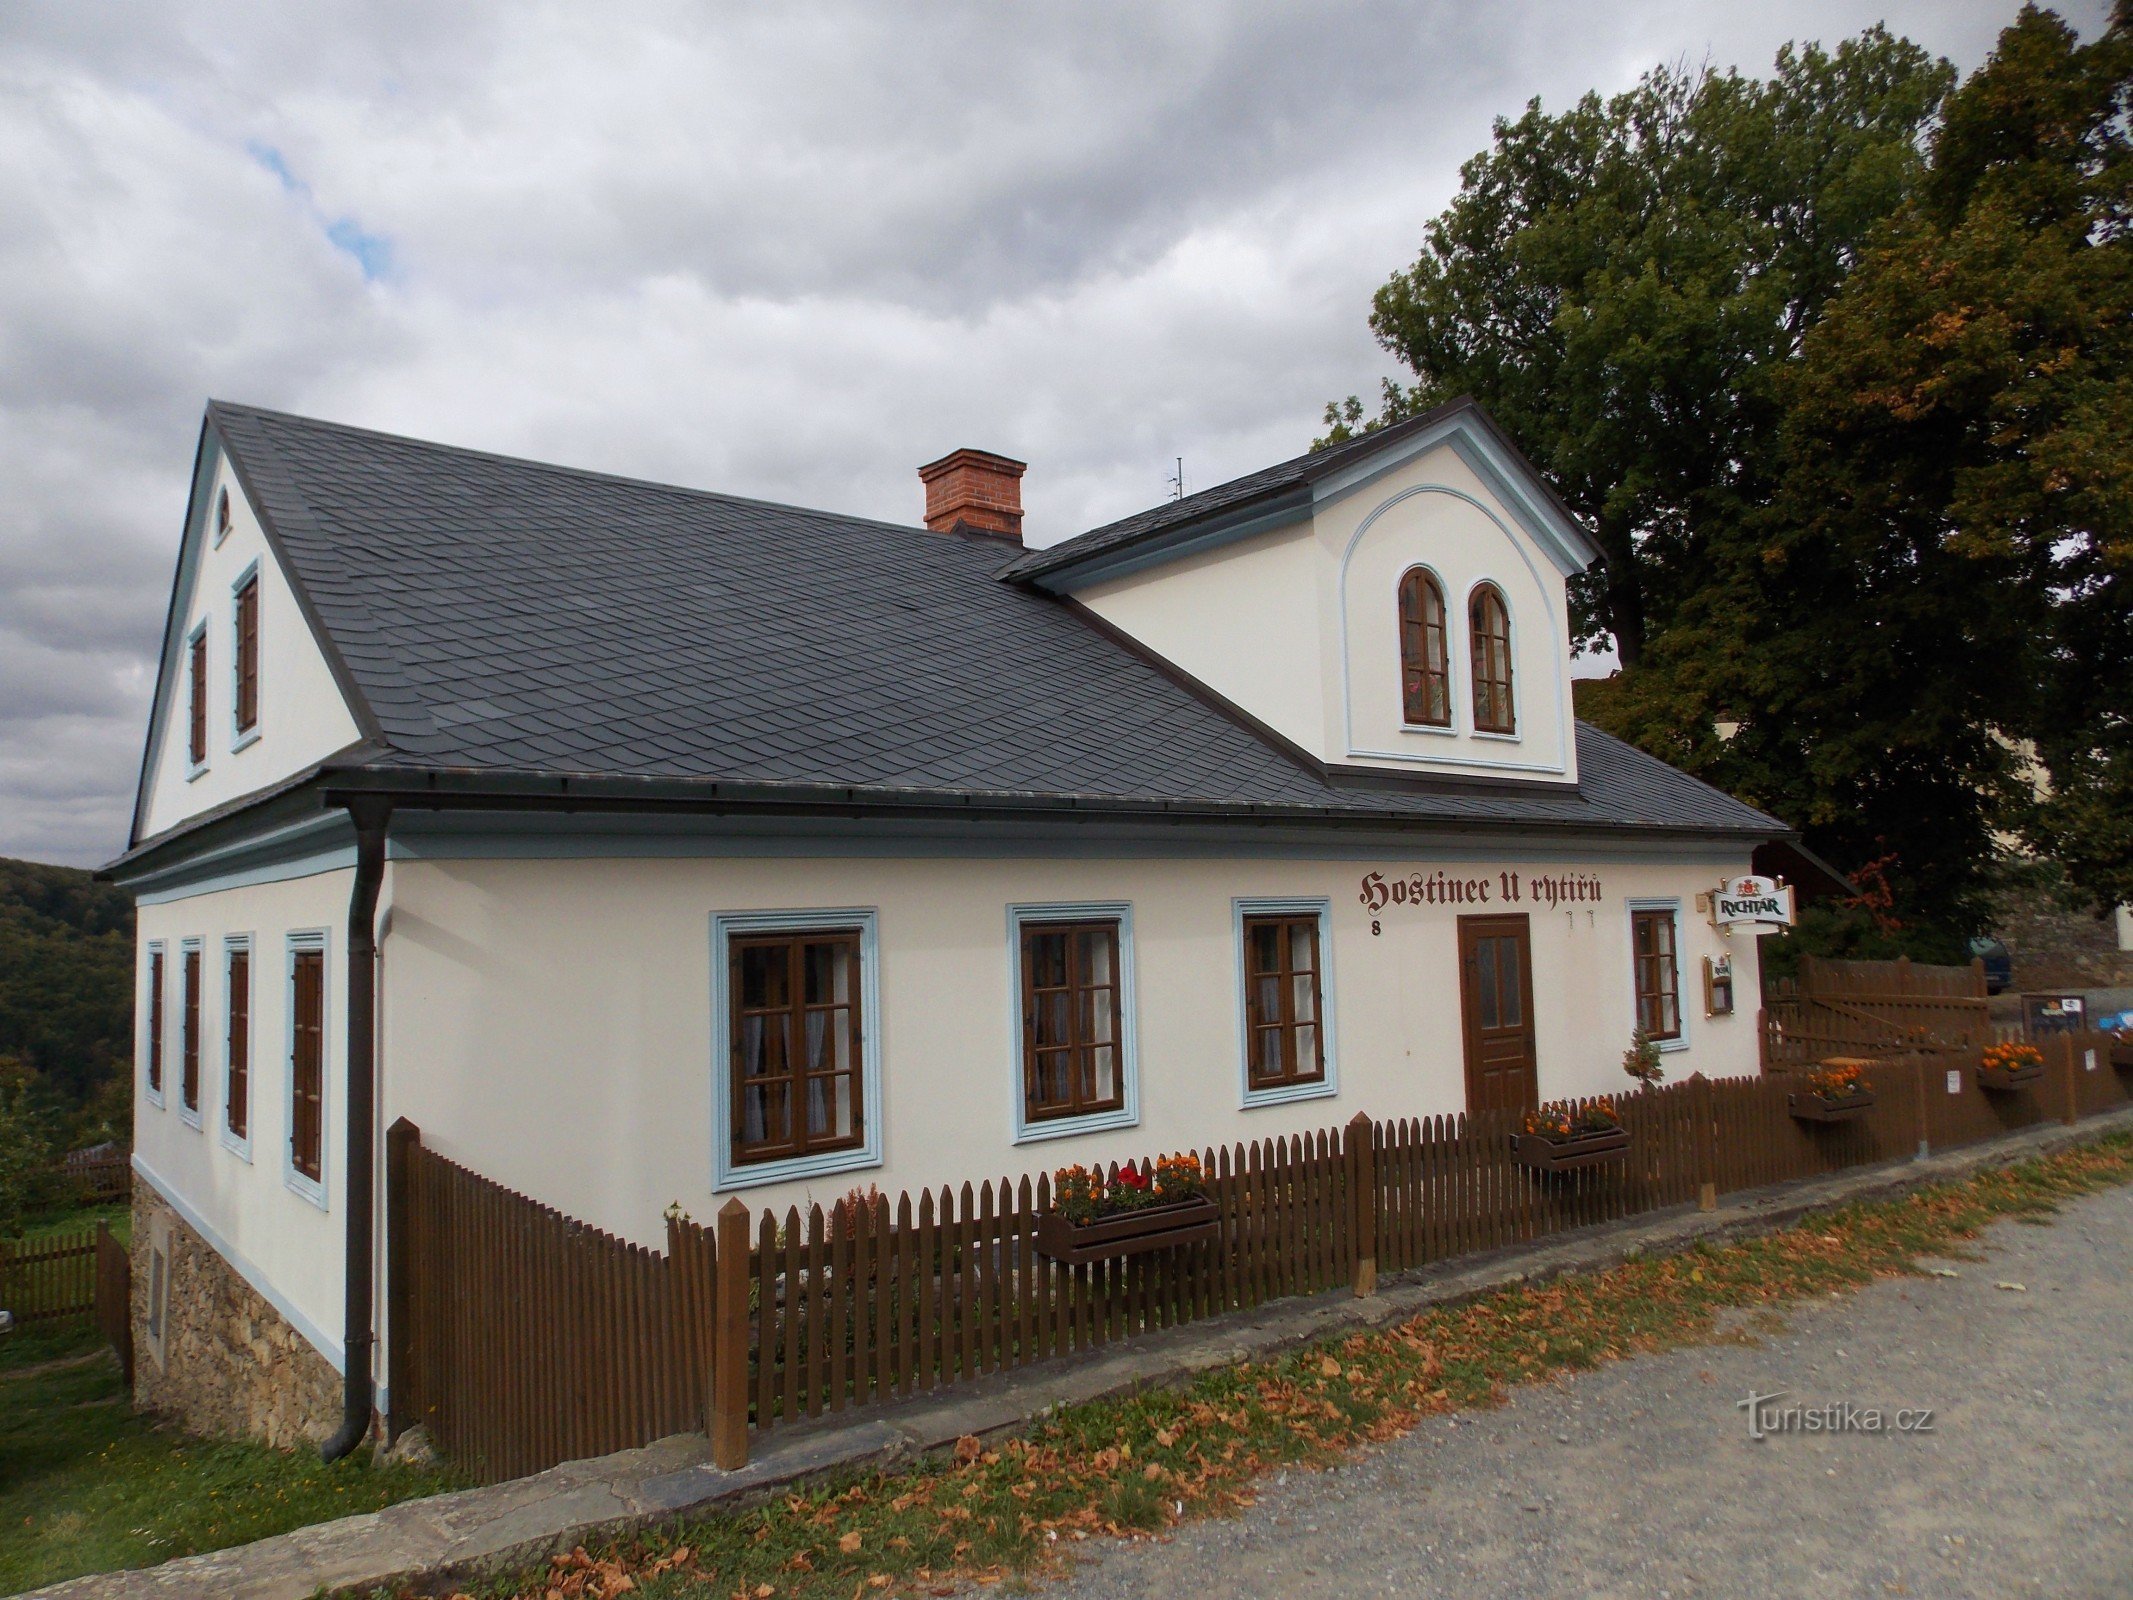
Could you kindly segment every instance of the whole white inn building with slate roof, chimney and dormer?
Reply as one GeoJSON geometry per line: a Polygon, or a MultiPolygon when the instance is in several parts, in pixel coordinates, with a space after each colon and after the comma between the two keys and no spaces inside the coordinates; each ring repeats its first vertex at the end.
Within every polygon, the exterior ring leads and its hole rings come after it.
{"type": "MultiPolygon", "coordinates": [[[[378,1146],[657,1242],[1758,1071],[1770,817],[1572,719],[1487,414],[1043,550],[209,405],[130,849],[141,1399],[369,1423],[378,1146]],[[1702,905],[1700,905],[1702,896],[1702,905]]],[[[343,1429],[335,1449],[352,1442],[343,1429]]]]}

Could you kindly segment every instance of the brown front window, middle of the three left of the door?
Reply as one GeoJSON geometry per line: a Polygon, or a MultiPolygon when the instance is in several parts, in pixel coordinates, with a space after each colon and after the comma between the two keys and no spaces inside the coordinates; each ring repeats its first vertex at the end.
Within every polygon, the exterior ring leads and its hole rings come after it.
{"type": "Polygon", "coordinates": [[[1118,922],[1022,924],[1026,1122],[1126,1103],[1118,922]]]}

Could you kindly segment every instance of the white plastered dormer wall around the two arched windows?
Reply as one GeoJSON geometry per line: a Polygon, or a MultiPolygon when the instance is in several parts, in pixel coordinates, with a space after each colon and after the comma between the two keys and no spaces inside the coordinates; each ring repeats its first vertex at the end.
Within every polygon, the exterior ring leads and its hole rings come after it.
{"type": "Polygon", "coordinates": [[[1576,781],[1566,578],[1450,444],[1290,527],[1177,557],[1075,597],[1325,762],[1576,781]],[[1453,721],[1401,717],[1399,580],[1444,589],[1453,721]],[[1512,736],[1474,730],[1468,597],[1504,593],[1512,736]]]}

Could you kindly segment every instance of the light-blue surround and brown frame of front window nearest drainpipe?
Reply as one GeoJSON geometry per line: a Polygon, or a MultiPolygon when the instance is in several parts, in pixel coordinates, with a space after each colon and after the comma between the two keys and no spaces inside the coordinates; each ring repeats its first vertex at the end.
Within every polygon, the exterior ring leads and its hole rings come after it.
{"type": "MultiPolygon", "coordinates": [[[[710,919],[712,964],[712,1190],[755,1188],[881,1165],[881,939],[870,907],[815,911],[732,911],[710,919]],[[857,941],[853,986],[857,1030],[857,1139],[811,1143],[793,1154],[740,1156],[740,1082],[734,1071],[738,1028],[736,945],[851,937],[857,941]]],[[[798,994],[793,996],[798,1001],[798,994]]],[[[804,1143],[804,1141],[802,1141],[804,1143]]]]}

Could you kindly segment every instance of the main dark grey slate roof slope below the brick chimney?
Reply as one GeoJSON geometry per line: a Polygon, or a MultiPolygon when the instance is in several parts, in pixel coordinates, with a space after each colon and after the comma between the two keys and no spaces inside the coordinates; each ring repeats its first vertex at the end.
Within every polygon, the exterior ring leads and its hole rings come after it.
{"type": "Polygon", "coordinates": [[[360,702],[367,766],[1785,832],[1585,725],[1583,791],[1329,781],[998,582],[996,540],[241,405],[209,425],[360,702]]]}

